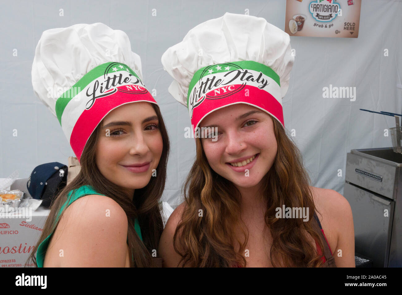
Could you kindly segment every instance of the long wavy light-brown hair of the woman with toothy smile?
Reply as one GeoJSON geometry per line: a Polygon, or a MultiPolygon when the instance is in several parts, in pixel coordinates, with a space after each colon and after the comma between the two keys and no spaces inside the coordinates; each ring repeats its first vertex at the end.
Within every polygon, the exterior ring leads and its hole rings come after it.
{"type": "MultiPolygon", "coordinates": [[[[314,225],[316,208],[309,188],[310,178],[296,144],[283,126],[276,119],[272,120],[278,149],[273,166],[263,177],[265,186],[262,188],[267,201],[265,224],[272,235],[270,260],[274,267],[320,267],[323,255],[312,246],[311,238],[308,240],[310,235],[324,249],[314,225]],[[276,218],[276,208],[282,208],[283,204],[309,208],[309,221],[276,218]]],[[[183,186],[185,209],[173,236],[174,250],[181,256],[178,265],[245,267],[248,230],[239,218],[240,191],[211,169],[199,138],[196,147],[196,160],[183,186]],[[199,217],[200,209],[203,210],[202,217],[199,217]],[[236,238],[234,228],[240,229],[240,240],[236,238]],[[235,242],[240,245],[238,252],[234,250],[235,242]]]]}

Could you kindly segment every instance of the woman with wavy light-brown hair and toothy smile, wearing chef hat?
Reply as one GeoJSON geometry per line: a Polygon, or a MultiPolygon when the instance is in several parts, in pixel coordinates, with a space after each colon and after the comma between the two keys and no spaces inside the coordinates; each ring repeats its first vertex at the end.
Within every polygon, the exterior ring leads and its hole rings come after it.
{"type": "Polygon", "coordinates": [[[349,203],[309,185],[284,128],[289,40],[263,18],[226,13],[162,56],[197,149],[161,237],[164,266],[354,267],[349,203]]]}

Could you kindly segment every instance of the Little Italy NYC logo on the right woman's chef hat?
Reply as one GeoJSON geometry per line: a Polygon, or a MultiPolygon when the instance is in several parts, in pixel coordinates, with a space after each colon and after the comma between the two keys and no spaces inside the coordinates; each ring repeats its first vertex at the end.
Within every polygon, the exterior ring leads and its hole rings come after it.
{"type": "MultiPolygon", "coordinates": [[[[201,69],[200,69],[201,71],[201,69]]],[[[267,76],[261,72],[242,69],[234,63],[219,63],[202,69],[199,81],[189,93],[188,106],[191,118],[193,110],[205,99],[226,98],[241,91],[247,84],[263,89],[269,85],[267,76]]]]}

